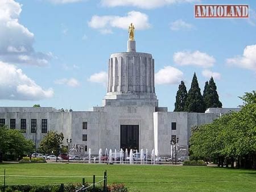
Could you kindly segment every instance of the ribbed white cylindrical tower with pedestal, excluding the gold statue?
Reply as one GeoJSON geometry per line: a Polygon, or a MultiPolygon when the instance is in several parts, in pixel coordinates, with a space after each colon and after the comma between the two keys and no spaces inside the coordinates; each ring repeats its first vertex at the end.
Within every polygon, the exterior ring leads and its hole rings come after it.
{"type": "Polygon", "coordinates": [[[110,56],[108,93],[104,105],[158,106],[154,65],[152,55],[136,52],[135,40],[129,39],[127,52],[113,53],[110,56]]]}

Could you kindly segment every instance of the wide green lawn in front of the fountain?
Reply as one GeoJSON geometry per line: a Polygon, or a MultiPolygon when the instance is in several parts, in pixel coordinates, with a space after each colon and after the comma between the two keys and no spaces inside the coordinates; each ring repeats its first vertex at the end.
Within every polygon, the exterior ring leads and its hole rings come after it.
{"type": "MultiPolygon", "coordinates": [[[[6,177],[6,185],[81,182],[82,177],[103,176],[108,183],[124,183],[130,191],[256,191],[256,171],[207,166],[0,164],[0,174],[29,176],[81,176],[80,178],[6,177]]],[[[3,184],[3,176],[0,176],[3,184]]],[[[97,177],[96,181],[101,180],[97,177]]],[[[92,182],[92,178],[85,178],[92,182]]]]}

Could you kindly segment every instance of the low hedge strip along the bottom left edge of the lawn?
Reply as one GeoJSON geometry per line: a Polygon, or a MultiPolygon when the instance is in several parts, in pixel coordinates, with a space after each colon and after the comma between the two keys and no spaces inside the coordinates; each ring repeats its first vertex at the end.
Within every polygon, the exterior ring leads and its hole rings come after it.
{"type": "MultiPolygon", "coordinates": [[[[89,186],[85,183],[85,187],[89,186]]],[[[64,185],[64,192],[76,191],[82,187],[81,183],[67,183],[64,185]]],[[[0,191],[3,191],[3,186],[0,186],[0,191]]],[[[5,187],[5,192],[61,192],[61,185],[11,185],[5,187]]],[[[103,192],[103,186],[89,187],[86,191],[103,192]]],[[[108,192],[127,192],[127,187],[123,184],[115,184],[107,187],[108,192]]]]}

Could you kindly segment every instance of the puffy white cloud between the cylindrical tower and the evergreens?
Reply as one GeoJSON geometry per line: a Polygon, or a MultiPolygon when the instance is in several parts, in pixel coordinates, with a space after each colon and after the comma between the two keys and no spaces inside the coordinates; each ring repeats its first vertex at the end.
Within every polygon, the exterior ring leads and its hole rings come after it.
{"type": "Polygon", "coordinates": [[[155,73],[155,84],[179,84],[183,79],[183,72],[172,66],[164,66],[155,73]]]}

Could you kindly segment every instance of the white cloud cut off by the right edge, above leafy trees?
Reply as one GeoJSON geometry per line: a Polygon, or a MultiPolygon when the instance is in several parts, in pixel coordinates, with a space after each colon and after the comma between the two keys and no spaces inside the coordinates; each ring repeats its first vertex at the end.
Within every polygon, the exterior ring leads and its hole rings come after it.
{"type": "Polygon", "coordinates": [[[242,56],[229,58],[226,62],[256,72],[256,44],[246,46],[245,49],[243,49],[242,56]]]}

